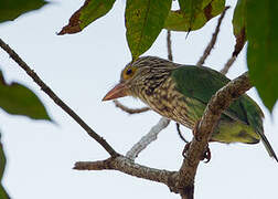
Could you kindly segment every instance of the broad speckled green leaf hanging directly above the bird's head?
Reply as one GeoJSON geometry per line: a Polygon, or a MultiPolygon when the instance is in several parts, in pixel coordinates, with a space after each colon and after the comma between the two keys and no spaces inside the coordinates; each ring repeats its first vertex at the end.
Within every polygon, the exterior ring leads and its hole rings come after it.
{"type": "Polygon", "coordinates": [[[126,36],[132,59],[145,53],[161,32],[172,0],[127,0],[126,36]]]}

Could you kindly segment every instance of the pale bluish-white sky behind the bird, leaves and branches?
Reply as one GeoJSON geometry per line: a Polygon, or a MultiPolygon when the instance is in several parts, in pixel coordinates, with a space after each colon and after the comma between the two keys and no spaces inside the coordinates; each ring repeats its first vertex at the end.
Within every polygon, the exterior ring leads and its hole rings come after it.
{"type": "MultiPolygon", "coordinates": [[[[125,1],[118,0],[113,10],[83,32],[58,36],[83,1],[55,0],[45,8],[24,14],[15,21],[0,24],[0,38],[87,122],[113,147],[126,154],[160,116],[148,112],[129,116],[115,108],[111,102],[101,102],[104,95],[118,82],[121,69],[131,56],[125,38],[125,1]]],[[[177,3],[177,1],[174,1],[177,3]]],[[[235,7],[235,1],[227,4],[235,7]]],[[[227,11],[220,38],[205,65],[223,67],[235,43],[227,11]]],[[[216,25],[216,19],[190,33],[174,32],[173,57],[178,63],[194,64],[202,55],[216,25]]],[[[234,78],[247,70],[246,49],[227,74],[234,78]]],[[[146,55],[167,57],[165,31],[162,31],[146,55]]],[[[77,160],[99,160],[107,153],[93,140],[67,114],[50,100],[36,84],[0,50],[0,69],[8,82],[17,81],[31,87],[45,104],[57,123],[31,121],[10,116],[0,109],[0,132],[8,156],[4,187],[15,199],[90,199],[90,198],[180,198],[161,184],[130,177],[119,171],[77,171],[77,160]]],[[[267,85],[266,85],[267,86],[267,85]]],[[[270,117],[256,91],[248,94],[263,108],[265,132],[278,154],[278,106],[270,117]]],[[[142,104],[131,97],[120,102],[132,107],[142,104]]],[[[185,137],[191,130],[182,128],[185,137]]],[[[136,160],[150,167],[178,170],[182,164],[184,143],[175,124],[161,132],[159,139],[143,150],[136,160]]],[[[195,179],[195,198],[277,198],[278,164],[263,144],[211,144],[212,159],[200,164],[195,179]]]]}

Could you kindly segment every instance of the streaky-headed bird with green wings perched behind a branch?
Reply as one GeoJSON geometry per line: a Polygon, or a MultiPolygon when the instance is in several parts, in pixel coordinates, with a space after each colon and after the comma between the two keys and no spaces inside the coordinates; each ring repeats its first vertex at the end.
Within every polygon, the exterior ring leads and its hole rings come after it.
{"type": "MultiPolygon", "coordinates": [[[[211,97],[231,80],[206,66],[183,65],[157,56],[141,56],[121,71],[119,83],[103,101],[139,98],[163,117],[194,129],[211,97]]],[[[243,94],[224,111],[210,142],[257,144],[278,158],[264,134],[264,113],[243,94]]]]}

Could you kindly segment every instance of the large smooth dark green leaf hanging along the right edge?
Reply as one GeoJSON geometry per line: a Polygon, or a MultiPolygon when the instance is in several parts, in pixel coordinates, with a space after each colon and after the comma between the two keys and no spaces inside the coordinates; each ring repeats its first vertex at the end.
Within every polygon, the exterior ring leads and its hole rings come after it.
{"type": "Polygon", "coordinates": [[[247,0],[247,63],[250,81],[270,112],[278,98],[277,12],[277,0],[247,0]]]}

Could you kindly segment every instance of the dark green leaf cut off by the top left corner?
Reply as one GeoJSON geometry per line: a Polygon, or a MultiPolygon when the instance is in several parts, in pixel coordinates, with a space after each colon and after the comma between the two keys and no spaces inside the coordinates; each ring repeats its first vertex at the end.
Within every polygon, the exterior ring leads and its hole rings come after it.
{"type": "Polygon", "coordinates": [[[46,3],[44,0],[1,0],[0,23],[14,20],[19,15],[40,9],[46,3]]]}

